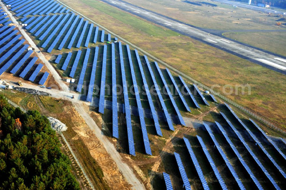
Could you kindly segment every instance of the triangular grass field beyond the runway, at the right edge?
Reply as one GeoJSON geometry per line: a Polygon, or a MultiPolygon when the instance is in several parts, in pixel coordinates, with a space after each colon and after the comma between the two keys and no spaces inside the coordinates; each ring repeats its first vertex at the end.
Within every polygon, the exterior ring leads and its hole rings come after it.
{"type": "Polygon", "coordinates": [[[286,32],[225,32],[223,35],[286,56],[286,32]]]}

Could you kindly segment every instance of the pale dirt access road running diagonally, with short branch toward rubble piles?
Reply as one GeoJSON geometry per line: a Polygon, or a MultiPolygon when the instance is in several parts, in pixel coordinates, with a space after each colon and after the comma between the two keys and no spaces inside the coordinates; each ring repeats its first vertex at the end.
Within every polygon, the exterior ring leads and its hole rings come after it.
{"type": "MultiPolygon", "coordinates": [[[[19,26],[19,27],[17,27],[18,30],[21,32],[23,37],[29,42],[31,47],[35,48],[35,50],[37,51],[37,56],[43,61],[43,63],[49,69],[49,71],[51,72],[51,75],[53,75],[56,82],[59,84],[61,89],[63,89],[63,91],[58,91],[58,90],[53,90],[53,89],[51,89],[51,90],[43,89],[43,88],[40,88],[39,86],[35,86],[35,85],[27,85],[26,87],[41,90],[41,91],[46,91],[46,92],[52,94],[52,96],[56,97],[56,98],[69,99],[69,101],[72,100],[75,109],[80,113],[82,118],[86,121],[86,123],[90,127],[90,129],[95,132],[94,134],[100,140],[101,144],[104,146],[106,151],[109,153],[110,157],[114,160],[118,169],[120,170],[120,172],[124,176],[124,179],[130,185],[133,186],[132,189],[136,189],[136,190],[145,189],[145,186],[138,180],[138,178],[134,174],[133,170],[126,163],[123,162],[122,157],[117,152],[116,148],[108,141],[107,137],[101,133],[99,127],[96,125],[96,123],[94,122],[92,117],[90,117],[90,115],[83,109],[83,102],[79,100],[80,95],[75,94],[74,92],[69,90],[68,86],[61,80],[61,77],[59,76],[59,74],[57,73],[55,68],[49,63],[49,61],[45,58],[45,56],[41,52],[38,53],[38,51],[40,51],[40,50],[37,47],[37,45],[33,42],[33,40],[25,32],[25,30],[23,30],[22,27],[20,27],[17,20],[7,10],[6,6],[1,1],[0,1],[0,5],[8,13],[10,19],[13,22],[15,22],[16,25],[19,26]],[[71,99],[70,98],[71,95],[76,95],[77,97],[75,99],[71,99]]],[[[116,188],[116,187],[113,187],[113,188],[116,188]]]]}

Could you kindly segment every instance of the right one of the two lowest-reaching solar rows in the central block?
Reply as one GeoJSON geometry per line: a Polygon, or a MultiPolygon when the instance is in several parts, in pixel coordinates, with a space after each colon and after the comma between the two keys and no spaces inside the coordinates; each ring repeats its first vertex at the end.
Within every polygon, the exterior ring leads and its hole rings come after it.
{"type": "Polygon", "coordinates": [[[137,81],[136,81],[136,77],[135,77],[135,72],[134,72],[134,68],[133,68],[133,63],[132,63],[129,45],[126,45],[126,48],[127,48],[129,65],[130,65],[130,69],[131,69],[132,81],[133,81],[133,86],[134,86],[134,91],[135,91],[135,96],[136,96],[136,102],[137,102],[137,107],[138,107],[138,112],[139,112],[141,129],[142,129],[142,133],[143,133],[143,141],[144,141],[145,151],[147,154],[152,155],[149,137],[147,134],[146,124],[145,124],[145,119],[144,119],[144,111],[142,108],[140,94],[138,91],[138,85],[137,85],[137,81]]]}

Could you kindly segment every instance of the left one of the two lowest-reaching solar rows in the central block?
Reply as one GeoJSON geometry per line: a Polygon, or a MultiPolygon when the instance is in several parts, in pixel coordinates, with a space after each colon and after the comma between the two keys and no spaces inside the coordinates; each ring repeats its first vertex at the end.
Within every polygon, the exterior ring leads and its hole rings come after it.
{"type": "Polygon", "coordinates": [[[119,42],[119,56],[120,56],[120,66],[121,66],[121,74],[122,74],[123,95],[124,95],[124,104],[125,104],[124,107],[125,107],[125,114],[126,114],[129,153],[135,156],[133,131],[132,131],[132,125],[131,125],[131,113],[130,113],[130,105],[129,105],[129,99],[128,99],[128,89],[127,89],[127,83],[126,83],[121,42],[119,42]]]}

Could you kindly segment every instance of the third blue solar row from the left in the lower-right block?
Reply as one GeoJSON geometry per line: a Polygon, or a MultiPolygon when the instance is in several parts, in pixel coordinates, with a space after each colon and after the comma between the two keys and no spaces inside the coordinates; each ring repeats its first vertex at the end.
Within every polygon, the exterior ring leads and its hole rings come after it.
{"type": "Polygon", "coordinates": [[[198,173],[198,177],[200,178],[200,181],[202,182],[202,187],[206,190],[206,189],[210,189],[208,187],[208,183],[206,182],[206,179],[204,177],[204,174],[202,173],[202,169],[200,167],[200,164],[198,163],[198,160],[196,158],[196,155],[194,154],[194,151],[192,149],[192,146],[190,144],[190,141],[186,138],[186,137],[183,137],[184,141],[185,141],[185,144],[188,148],[188,151],[190,153],[190,156],[191,156],[191,159],[192,159],[192,162],[194,163],[194,166],[196,168],[196,171],[198,173]]]}

